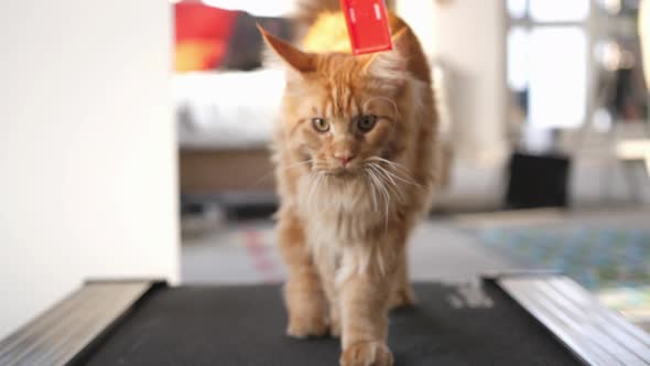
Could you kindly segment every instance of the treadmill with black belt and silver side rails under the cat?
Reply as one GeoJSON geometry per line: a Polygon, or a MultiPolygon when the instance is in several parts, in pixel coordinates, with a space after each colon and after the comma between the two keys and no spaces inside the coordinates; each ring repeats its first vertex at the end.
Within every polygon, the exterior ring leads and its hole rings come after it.
{"type": "MultiPolygon", "coordinates": [[[[650,365],[650,335],[562,274],[414,291],[390,314],[396,365],[650,365]]],[[[0,365],[338,365],[338,340],[290,338],[285,316],[280,286],[93,280],[1,341],[0,365]]]]}

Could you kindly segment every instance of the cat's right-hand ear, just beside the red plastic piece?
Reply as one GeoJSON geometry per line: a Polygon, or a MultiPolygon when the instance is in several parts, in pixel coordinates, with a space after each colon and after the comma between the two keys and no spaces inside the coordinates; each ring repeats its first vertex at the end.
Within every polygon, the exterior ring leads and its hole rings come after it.
{"type": "Polygon", "coordinates": [[[401,86],[407,82],[408,73],[408,40],[404,36],[409,31],[402,28],[392,36],[391,51],[379,52],[367,57],[364,72],[391,85],[401,86]]]}

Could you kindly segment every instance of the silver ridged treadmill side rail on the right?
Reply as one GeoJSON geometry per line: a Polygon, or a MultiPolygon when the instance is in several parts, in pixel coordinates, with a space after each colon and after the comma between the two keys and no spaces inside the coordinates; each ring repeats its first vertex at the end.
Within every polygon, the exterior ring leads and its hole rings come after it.
{"type": "Polygon", "coordinates": [[[497,284],[588,365],[650,365],[650,335],[564,276],[505,276],[497,284]]]}

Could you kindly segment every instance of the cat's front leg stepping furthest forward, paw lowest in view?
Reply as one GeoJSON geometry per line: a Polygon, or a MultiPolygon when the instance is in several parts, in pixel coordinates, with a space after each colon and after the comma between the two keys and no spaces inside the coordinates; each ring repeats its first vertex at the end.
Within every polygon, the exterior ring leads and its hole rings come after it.
{"type": "Polygon", "coordinates": [[[389,268],[380,270],[376,263],[371,263],[370,268],[351,270],[339,283],[342,366],[393,364],[392,353],[386,342],[394,265],[384,265],[389,268]]]}

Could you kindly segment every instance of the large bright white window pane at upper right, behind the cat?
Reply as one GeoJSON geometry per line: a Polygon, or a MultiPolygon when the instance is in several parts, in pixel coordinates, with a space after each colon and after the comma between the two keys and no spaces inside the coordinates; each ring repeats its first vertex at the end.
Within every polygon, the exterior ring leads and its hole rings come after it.
{"type": "Polygon", "coordinates": [[[509,0],[508,85],[526,122],[574,128],[587,109],[589,0],[509,0]]]}

